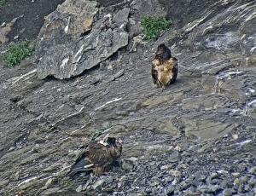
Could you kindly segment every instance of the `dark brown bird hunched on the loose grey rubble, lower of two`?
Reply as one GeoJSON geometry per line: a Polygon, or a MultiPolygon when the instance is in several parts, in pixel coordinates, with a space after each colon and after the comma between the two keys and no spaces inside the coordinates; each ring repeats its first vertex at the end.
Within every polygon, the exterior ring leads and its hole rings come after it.
{"type": "Polygon", "coordinates": [[[113,162],[119,159],[122,153],[122,141],[108,135],[101,141],[93,141],[79,154],[68,176],[74,176],[81,172],[93,171],[96,176],[107,172],[113,162]]]}

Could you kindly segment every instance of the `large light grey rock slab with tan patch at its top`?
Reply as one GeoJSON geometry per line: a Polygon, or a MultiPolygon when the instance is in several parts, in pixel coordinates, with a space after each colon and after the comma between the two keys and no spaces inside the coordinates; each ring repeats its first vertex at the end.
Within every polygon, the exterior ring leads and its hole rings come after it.
{"type": "Polygon", "coordinates": [[[77,76],[125,47],[129,11],[121,9],[96,20],[94,1],[61,4],[46,17],[38,36],[38,78],[77,76]]]}

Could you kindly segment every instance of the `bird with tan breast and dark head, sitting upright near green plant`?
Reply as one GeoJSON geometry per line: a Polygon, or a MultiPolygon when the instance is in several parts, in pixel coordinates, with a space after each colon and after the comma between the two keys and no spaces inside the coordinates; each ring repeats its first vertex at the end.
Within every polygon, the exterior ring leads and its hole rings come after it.
{"type": "Polygon", "coordinates": [[[171,50],[164,43],[157,48],[152,61],[151,74],[154,84],[163,89],[176,81],[177,59],[172,57],[171,50]]]}

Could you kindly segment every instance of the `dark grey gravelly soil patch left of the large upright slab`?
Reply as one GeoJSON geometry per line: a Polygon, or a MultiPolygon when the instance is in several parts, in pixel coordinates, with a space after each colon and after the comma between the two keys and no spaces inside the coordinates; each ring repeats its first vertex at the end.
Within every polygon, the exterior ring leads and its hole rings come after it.
{"type": "MultiPolygon", "coordinates": [[[[0,25],[4,22],[24,15],[15,22],[15,26],[8,34],[10,42],[22,41],[24,39],[33,41],[38,37],[41,27],[44,25],[44,16],[53,12],[57,5],[65,0],[8,0],[0,6],[0,25]],[[18,39],[15,39],[18,36],[18,39]]],[[[3,2],[3,1],[2,1],[3,2]]]]}

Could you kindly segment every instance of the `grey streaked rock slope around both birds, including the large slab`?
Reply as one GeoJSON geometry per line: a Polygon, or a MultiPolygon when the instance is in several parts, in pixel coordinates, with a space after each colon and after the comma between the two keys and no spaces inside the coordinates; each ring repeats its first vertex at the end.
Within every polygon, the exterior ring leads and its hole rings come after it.
{"type": "Polygon", "coordinates": [[[46,17],[37,69],[1,66],[0,193],[254,195],[255,9],[253,0],[67,0],[46,17]],[[133,44],[144,14],[172,27],[133,44]],[[160,43],[179,66],[164,91],[150,78],[160,43]],[[64,177],[95,133],[123,139],[119,165],[64,177]]]}

